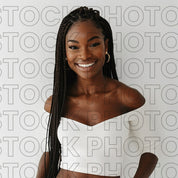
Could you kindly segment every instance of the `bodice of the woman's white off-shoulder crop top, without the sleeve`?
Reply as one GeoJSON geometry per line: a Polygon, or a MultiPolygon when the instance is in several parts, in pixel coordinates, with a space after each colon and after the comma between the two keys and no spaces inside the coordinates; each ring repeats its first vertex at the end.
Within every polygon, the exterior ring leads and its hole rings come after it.
{"type": "Polygon", "coordinates": [[[61,117],[57,131],[62,148],[60,167],[80,173],[121,176],[123,145],[133,118],[130,116],[138,109],[94,126],[61,117]]]}

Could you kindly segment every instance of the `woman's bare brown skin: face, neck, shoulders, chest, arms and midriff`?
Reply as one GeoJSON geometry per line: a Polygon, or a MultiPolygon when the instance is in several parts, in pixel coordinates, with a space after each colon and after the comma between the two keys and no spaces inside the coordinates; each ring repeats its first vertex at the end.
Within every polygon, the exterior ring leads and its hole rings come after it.
{"type": "MultiPolygon", "coordinates": [[[[144,97],[136,89],[103,75],[102,68],[107,50],[108,40],[104,40],[101,29],[96,28],[91,21],[78,22],[69,29],[66,35],[66,55],[69,67],[77,74],[77,80],[67,91],[63,117],[93,126],[135,110],[145,103],[144,97]],[[79,64],[91,63],[94,65],[90,69],[79,67],[79,64]]],[[[47,112],[50,112],[51,100],[52,96],[45,103],[44,109],[47,112]]],[[[156,163],[155,155],[144,153],[134,178],[148,178],[156,163]]],[[[57,178],[86,177],[111,178],[64,169],[57,175],[57,178]]],[[[44,178],[44,154],[39,163],[37,178],[44,178]]]]}

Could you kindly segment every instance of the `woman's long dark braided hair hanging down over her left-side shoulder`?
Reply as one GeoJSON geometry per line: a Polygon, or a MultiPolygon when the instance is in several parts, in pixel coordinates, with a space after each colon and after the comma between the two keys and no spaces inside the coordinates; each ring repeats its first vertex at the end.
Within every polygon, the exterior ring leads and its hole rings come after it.
{"type": "Polygon", "coordinates": [[[56,178],[58,172],[60,171],[61,144],[57,138],[57,128],[60,124],[67,91],[71,88],[77,78],[76,73],[70,69],[67,61],[65,60],[65,38],[67,32],[73,24],[88,20],[93,22],[96,28],[102,30],[104,40],[109,40],[108,53],[110,54],[110,61],[109,63],[105,62],[103,66],[103,75],[118,80],[114,62],[112,30],[109,23],[100,16],[99,11],[93,10],[92,8],[88,8],[86,6],[79,7],[70,12],[62,20],[56,40],[53,95],[47,125],[45,146],[45,153],[47,148],[49,151],[49,168],[47,171],[45,162],[45,178],[56,178]]]}

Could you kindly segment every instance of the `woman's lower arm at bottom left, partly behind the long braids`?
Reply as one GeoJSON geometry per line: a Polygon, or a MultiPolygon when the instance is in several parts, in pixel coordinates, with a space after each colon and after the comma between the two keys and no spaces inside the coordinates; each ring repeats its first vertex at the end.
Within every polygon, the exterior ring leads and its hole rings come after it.
{"type": "Polygon", "coordinates": [[[38,164],[38,172],[36,178],[45,178],[45,157],[46,157],[46,170],[49,168],[49,152],[44,152],[38,164]],[[46,156],[45,156],[46,153],[46,156]]]}

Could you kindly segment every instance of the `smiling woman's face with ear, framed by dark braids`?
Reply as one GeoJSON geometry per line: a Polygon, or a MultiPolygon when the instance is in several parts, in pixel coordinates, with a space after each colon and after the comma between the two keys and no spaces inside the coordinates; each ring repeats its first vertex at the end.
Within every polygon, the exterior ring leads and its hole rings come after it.
{"type": "Polygon", "coordinates": [[[108,40],[91,21],[77,22],[66,35],[66,57],[78,77],[89,79],[103,75],[108,40]]]}

